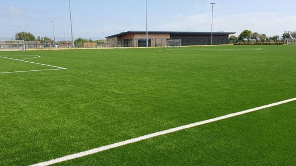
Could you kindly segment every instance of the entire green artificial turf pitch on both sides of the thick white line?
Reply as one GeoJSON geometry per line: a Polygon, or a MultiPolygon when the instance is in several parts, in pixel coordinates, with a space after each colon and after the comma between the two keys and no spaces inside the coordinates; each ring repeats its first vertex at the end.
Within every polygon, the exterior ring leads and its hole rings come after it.
{"type": "MultiPolygon", "coordinates": [[[[40,55],[28,61],[67,68],[0,74],[0,165],[34,164],[294,98],[295,51],[220,46],[0,52],[40,55]]],[[[0,72],[10,66],[3,63],[0,72]]],[[[295,108],[289,103],[62,164],[293,165],[289,154],[296,151],[287,142],[295,142],[295,108]],[[272,146],[274,136],[279,142],[272,146]]]]}

